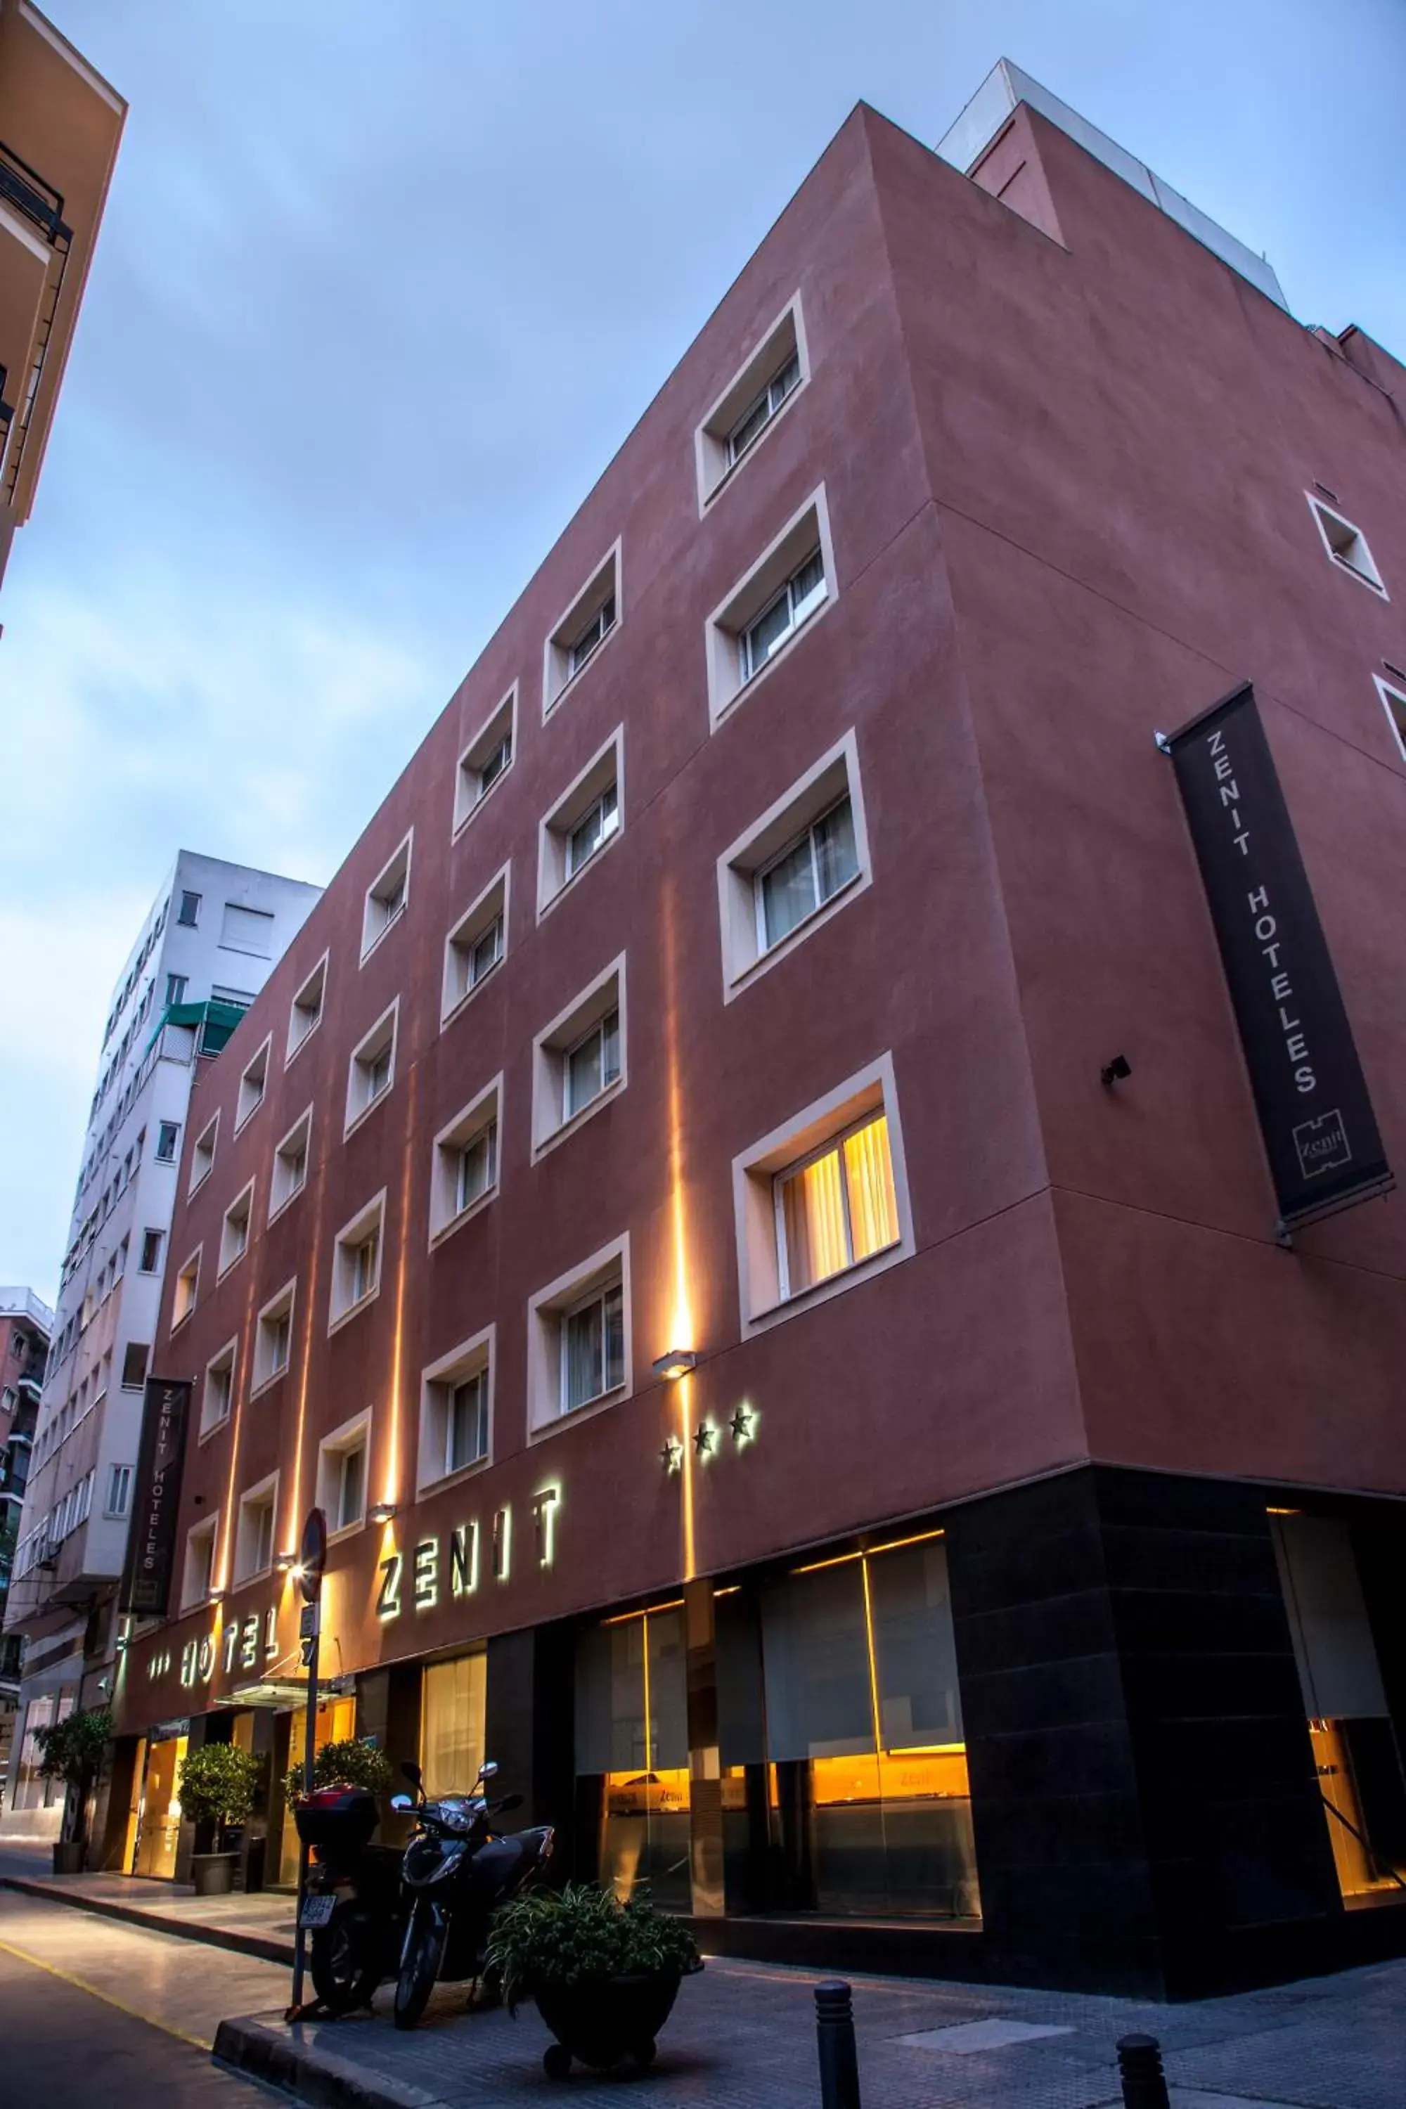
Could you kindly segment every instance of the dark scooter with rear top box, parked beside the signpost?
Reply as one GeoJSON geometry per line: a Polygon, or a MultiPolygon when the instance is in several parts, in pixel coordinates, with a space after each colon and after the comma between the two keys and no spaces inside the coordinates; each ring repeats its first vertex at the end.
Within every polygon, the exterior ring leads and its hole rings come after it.
{"type": "Polygon", "coordinates": [[[312,1989],[329,2014],[350,2014],[371,2006],[401,1963],[401,1854],[371,1843],[377,1807],[365,1786],[318,1786],[293,1820],[310,1845],[301,1926],[312,1936],[312,1989]]]}

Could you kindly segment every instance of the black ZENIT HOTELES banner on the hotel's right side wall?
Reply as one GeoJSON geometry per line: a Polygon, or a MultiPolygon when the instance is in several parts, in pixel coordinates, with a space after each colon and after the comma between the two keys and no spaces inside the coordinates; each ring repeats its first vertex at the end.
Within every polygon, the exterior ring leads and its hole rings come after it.
{"type": "Polygon", "coordinates": [[[1385,1194],[1391,1173],[1254,690],[1246,681],[1164,744],[1288,1234],[1385,1194]]]}

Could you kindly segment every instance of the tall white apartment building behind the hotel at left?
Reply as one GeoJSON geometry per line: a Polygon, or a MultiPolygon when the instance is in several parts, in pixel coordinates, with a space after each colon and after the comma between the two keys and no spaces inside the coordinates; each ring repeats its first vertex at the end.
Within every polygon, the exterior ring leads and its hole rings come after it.
{"type": "Polygon", "coordinates": [[[34,1729],[103,1704],[116,1649],[141,1402],[196,1063],[219,1054],[320,896],[181,850],[118,976],[78,1192],[4,1632],[23,1634],[8,1835],[57,1835],[34,1729]]]}

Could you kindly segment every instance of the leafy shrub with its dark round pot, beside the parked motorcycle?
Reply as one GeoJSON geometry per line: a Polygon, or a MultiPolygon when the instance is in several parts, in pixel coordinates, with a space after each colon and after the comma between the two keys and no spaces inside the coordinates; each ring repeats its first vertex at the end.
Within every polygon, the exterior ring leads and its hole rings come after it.
{"type": "Polygon", "coordinates": [[[594,1883],[531,1890],[502,1907],[485,1968],[502,1978],[508,2010],[531,1997],[556,2042],[544,2056],[552,2079],[571,2060],[609,2071],[626,2056],[653,2063],[653,2039],[679,1997],[679,1978],[702,1970],[687,1926],[647,1896],[620,1902],[594,1883]]]}

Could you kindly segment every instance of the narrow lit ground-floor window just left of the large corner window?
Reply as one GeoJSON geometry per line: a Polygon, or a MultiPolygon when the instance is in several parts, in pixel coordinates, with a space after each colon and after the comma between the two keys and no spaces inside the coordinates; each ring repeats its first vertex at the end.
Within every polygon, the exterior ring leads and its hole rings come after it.
{"type": "Polygon", "coordinates": [[[683,1607],[607,1620],[575,1658],[578,1805],[597,1829],[603,1883],[687,1911],[689,1740],[683,1607]]]}

